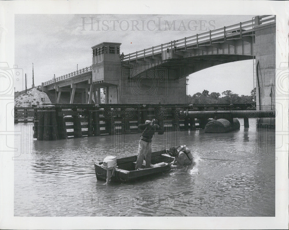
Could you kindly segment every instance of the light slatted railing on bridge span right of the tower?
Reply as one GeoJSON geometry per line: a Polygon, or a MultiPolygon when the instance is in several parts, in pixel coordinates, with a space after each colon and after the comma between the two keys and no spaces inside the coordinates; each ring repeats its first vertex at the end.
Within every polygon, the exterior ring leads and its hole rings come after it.
{"type": "MultiPolygon", "coordinates": [[[[133,61],[141,58],[146,58],[148,56],[154,58],[154,55],[161,54],[163,50],[166,49],[175,49],[176,51],[184,50],[192,48],[192,46],[199,46],[199,43],[205,45],[205,43],[214,43],[212,40],[219,39],[230,39],[235,38],[236,35],[242,37],[244,35],[253,35],[253,27],[256,25],[263,25],[266,23],[271,23],[276,20],[274,15],[262,15],[255,18],[255,20],[249,20],[246,22],[238,23],[235,25],[227,26],[220,29],[215,29],[212,31],[206,31],[204,33],[196,34],[187,38],[182,38],[179,40],[171,41],[165,44],[161,44],[158,46],[153,46],[151,48],[143,49],[141,51],[136,51],[134,53],[129,53],[124,56],[123,61],[133,61]]],[[[208,45],[208,44],[207,44],[208,45]]],[[[195,47],[194,47],[195,48],[195,47]]]]}

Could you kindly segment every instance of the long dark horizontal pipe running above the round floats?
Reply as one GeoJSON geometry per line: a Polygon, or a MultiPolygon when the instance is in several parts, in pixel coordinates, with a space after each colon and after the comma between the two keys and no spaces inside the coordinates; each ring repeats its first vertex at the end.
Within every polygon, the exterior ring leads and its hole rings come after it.
{"type": "Polygon", "coordinates": [[[190,118],[214,118],[216,114],[231,114],[232,117],[248,117],[248,118],[260,118],[260,117],[275,117],[274,110],[256,111],[256,110],[231,110],[231,111],[184,111],[184,113],[190,118]]]}

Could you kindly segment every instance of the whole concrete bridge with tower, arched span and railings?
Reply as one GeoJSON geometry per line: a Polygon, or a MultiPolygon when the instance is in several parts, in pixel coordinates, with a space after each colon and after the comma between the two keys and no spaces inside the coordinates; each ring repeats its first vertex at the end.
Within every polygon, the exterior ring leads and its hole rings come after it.
{"type": "Polygon", "coordinates": [[[51,94],[56,89],[57,103],[100,103],[100,89],[105,89],[106,103],[180,104],[186,97],[189,74],[256,59],[257,108],[266,109],[262,106],[271,106],[271,99],[275,104],[275,91],[271,94],[271,86],[275,88],[275,27],[275,16],[255,16],[126,55],[120,52],[121,43],[103,42],[92,47],[91,66],[44,82],[42,89],[51,94]]]}

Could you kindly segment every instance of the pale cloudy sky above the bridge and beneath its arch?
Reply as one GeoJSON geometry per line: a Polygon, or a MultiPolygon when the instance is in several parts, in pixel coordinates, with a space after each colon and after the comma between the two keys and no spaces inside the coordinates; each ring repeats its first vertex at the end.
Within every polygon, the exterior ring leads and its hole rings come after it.
{"type": "MultiPolygon", "coordinates": [[[[254,15],[16,14],[15,64],[27,74],[27,87],[92,64],[91,47],[119,42],[121,53],[150,48],[197,33],[252,20],[254,15]],[[91,24],[92,21],[92,24],[91,24]]],[[[204,89],[250,95],[253,61],[237,61],[190,74],[188,94],[204,89]]],[[[24,82],[24,83],[23,83],[24,82]]],[[[21,77],[15,91],[25,89],[21,77]]]]}

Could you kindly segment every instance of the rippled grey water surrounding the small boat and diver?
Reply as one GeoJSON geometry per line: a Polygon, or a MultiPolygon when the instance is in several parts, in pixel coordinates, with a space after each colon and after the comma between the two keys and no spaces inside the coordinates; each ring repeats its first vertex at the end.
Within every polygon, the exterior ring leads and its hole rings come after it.
{"type": "Polygon", "coordinates": [[[225,134],[155,135],[153,151],[178,138],[196,167],[108,185],[97,181],[93,163],[135,155],[138,135],[36,141],[32,124],[16,124],[23,134],[15,136],[14,215],[275,216],[275,133],[256,130],[255,119],[249,129],[239,121],[240,130],[225,134]]]}

